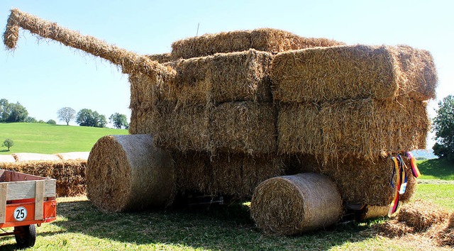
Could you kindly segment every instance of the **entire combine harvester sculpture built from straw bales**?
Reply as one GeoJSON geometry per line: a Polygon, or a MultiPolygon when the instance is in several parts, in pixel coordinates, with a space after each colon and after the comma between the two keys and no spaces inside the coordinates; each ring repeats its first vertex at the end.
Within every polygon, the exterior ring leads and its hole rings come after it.
{"type": "Polygon", "coordinates": [[[101,138],[88,160],[88,196],[103,211],[165,208],[194,195],[252,200],[259,228],[294,235],[352,212],[384,216],[414,193],[404,153],[426,145],[437,82],[425,50],[261,28],[138,55],[17,9],[9,48],[20,27],[129,75],[131,135],[101,138]],[[395,168],[401,175],[392,177],[395,168]],[[405,193],[390,177],[402,186],[405,178],[405,193]]]}

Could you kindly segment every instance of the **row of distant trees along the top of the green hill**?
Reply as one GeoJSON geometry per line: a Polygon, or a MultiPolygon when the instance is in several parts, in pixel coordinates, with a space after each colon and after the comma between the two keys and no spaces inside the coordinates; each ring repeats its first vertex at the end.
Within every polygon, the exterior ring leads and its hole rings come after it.
{"type": "MultiPolygon", "coordinates": [[[[57,111],[57,117],[60,121],[65,121],[67,125],[69,125],[70,121],[73,121],[74,119],[75,122],[81,126],[104,128],[107,125],[106,116],[88,108],[84,108],[76,113],[73,108],[63,107],[57,111]]],[[[0,99],[0,123],[16,122],[56,124],[56,122],[52,119],[47,122],[41,120],[37,121],[35,118],[28,116],[27,109],[19,102],[9,103],[7,99],[0,99]]],[[[129,129],[128,119],[124,114],[112,114],[109,117],[109,122],[114,125],[114,128],[129,129]]]]}

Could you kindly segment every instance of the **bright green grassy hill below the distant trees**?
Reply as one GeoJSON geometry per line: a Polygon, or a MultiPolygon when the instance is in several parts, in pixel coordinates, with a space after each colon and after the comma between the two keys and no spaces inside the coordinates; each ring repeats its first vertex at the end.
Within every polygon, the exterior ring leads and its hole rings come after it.
{"type": "Polygon", "coordinates": [[[14,141],[10,151],[0,147],[0,154],[89,152],[102,136],[120,134],[128,134],[128,130],[45,123],[0,123],[0,145],[6,138],[14,141]]]}

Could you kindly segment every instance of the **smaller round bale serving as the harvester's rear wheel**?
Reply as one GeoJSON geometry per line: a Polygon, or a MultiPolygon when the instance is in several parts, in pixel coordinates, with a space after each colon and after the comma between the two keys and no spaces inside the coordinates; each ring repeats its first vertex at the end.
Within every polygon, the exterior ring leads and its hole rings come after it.
{"type": "Polygon", "coordinates": [[[274,177],[255,189],[250,213],[265,233],[296,235],[336,223],[342,213],[341,194],[322,174],[274,177]]]}

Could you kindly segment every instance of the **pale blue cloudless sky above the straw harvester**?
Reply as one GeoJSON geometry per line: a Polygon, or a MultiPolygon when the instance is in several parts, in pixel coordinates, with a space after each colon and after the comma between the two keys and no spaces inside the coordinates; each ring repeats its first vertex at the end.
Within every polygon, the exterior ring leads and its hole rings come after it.
{"type": "MultiPolygon", "coordinates": [[[[0,27],[12,7],[142,54],[170,52],[173,41],[196,35],[198,24],[199,35],[270,27],[348,44],[405,44],[432,53],[437,99],[454,95],[454,1],[3,0],[0,27]]],[[[0,50],[0,76],[0,99],[21,102],[37,119],[57,121],[64,106],[130,116],[127,75],[28,31],[14,52],[0,50]]]]}

